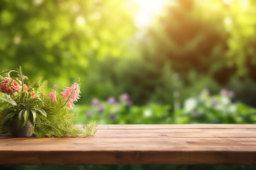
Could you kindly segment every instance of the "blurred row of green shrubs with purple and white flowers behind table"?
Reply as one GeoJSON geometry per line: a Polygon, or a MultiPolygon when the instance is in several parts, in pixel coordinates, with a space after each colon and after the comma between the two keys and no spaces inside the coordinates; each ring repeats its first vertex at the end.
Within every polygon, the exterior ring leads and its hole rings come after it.
{"type": "Polygon", "coordinates": [[[204,89],[199,95],[189,97],[181,109],[171,105],[149,103],[135,106],[127,93],[119,99],[107,101],[92,99],[90,105],[75,106],[77,124],[88,124],[95,119],[99,124],[254,124],[256,108],[233,102],[234,92],[222,89],[210,95],[204,89]]]}

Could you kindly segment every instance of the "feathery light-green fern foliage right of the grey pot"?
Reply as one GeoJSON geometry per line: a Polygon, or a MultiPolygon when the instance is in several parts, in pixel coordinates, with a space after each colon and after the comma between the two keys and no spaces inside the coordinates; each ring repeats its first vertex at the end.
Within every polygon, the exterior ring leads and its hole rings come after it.
{"type": "Polygon", "coordinates": [[[94,128],[98,122],[94,120],[90,125],[83,125],[82,129],[76,127],[74,124],[76,114],[71,113],[67,107],[63,107],[65,99],[57,94],[59,102],[53,104],[45,93],[45,87],[47,87],[46,81],[43,82],[42,87],[38,87],[42,104],[53,108],[47,111],[47,119],[36,119],[36,126],[33,131],[36,137],[64,137],[66,134],[72,137],[80,134],[84,137],[93,136],[97,131],[94,128]]]}

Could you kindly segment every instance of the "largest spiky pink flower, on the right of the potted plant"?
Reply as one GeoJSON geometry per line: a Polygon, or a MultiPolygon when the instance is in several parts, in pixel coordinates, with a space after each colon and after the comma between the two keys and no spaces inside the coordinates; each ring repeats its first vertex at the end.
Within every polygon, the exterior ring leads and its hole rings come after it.
{"type": "Polygon", "coordinates": [[[74,102],[77,102],[78,99],[80,99],[81,97],[79,95],[79,93],[81,93],[79,81],[80,81],[80,78],[78,78],[77,81],[74,81],[72,86],[66,87],[66,89],[63,89],[64,91],[61,92],[62,97],[66,98],[65,104],[67,104],[67,107],[70,109],[73,108],[74,102]]]}

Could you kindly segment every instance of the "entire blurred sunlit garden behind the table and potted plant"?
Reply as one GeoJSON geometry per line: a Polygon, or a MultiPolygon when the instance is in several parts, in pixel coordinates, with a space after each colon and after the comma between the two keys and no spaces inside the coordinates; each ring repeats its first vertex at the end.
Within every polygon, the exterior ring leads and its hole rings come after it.
{"type": "Polygon", "coordinates": [[[254,124],[255,47],[255,0],[0,0],[1,70],[80,77],[77,124],[254,124]]]}

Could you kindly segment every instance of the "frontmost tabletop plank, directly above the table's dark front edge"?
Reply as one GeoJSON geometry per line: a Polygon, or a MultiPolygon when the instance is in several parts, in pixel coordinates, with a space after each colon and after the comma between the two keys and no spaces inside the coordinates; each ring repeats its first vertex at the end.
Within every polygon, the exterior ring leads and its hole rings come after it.
{"type": "MultiPolygon", "coordinates": [[[[142,138],[144,139],[144,138],[142,138]]],[[[65,150],[223,150],[223,151],[256,151],[256,139],[247,138],[241,141],[238,138],[146,138],[142,140],[126,138],[119,141],[116,138],[97,140],[88,138],[9,138],[2,139],[0,151],[65,151],[65,150]],[[16,140],[12,140],[16,139],[16,140]],[[110,139],[110,140],[107,140],[110,139]],[[129,139],[129,140],[127,140],[129,139]],[[132,141],[133,140],[133,141],[132,141]],[[58,147],[56,147],[58,146],[58,147]]]]}

